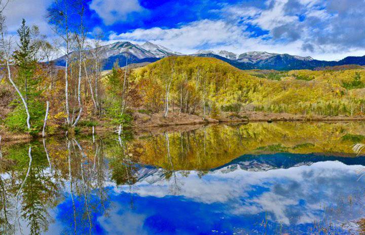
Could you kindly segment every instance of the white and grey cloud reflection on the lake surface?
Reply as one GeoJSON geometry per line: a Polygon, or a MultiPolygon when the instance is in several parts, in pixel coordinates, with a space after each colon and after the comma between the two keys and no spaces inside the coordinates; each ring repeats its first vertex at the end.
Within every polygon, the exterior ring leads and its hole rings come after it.
{"type": "MultiPolygon", "coordinates": [[[[203,178],[199,178],[197,172],[191,172],[188,177],[178,174],[177,181],[184,185],[178,196],[204,204],[221,203],[225,213],[232,215],[249,217],[268,212],[272,216],[270,220],[281,224],[312,223],[323,218],[323,206],[334,206],[337,200],[358,192],[363,183],[356,181],[358,167],[327,161],[259,172],[238,169],[222,173],[223,170],[215,170],[203,178]]],[[[138,196],[172,196],[169,187],[174,182],[161,180],[151,184],[148,178],[145,180],[135,185],[134,193],[138,196]]],[[[127,185],[115,190],[120,193],[130,189],[127,185]]],[[[361,203],[343,207],[340,214],[326,213],[334,216],[334,221],[341,216],[356,220],[361,214],[359,205],[361,203]]]]}

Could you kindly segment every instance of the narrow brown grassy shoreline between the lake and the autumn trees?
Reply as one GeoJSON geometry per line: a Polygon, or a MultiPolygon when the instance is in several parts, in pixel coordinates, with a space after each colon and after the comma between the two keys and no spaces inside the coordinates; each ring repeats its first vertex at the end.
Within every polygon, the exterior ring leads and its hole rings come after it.
{"type": "MultiPolygon", "coordinates": [[[[247,113],[244,113],[247,114],[247,113]]],[[[167,117],[161,119],[161,117],[156,114],[156,118],[158,121],[148,121],[148,122],[141,122],[140,119],[137,119],[133,122],[133,126],[129,127],[129,130],[134,131],[135,133],[157,133],[158,130],[164,129],[165,131],[177,131],[177,130],[189,130],[189,129],[197,129],[205,125],[216,125],[216,124],[229,124],[229,123],[249,123],[249,122],[352,122],[352,121],[365,121],[365,116],[353,116],[353,117],[346,117],[346,116],[330,116],[330,117],[321,117],[321,116],[300,116],[300,115],[293,115],[293,114],[283,114],[283,113],[260,113],[260,112],[253,112],[243,117],[223,117],[223,118],[207,118],[203,119],[200,116],[196,115],[182,115],[182,119],[176,119],[176,113],[172,113],[172,117],[167,117]],[[186,117],[189,117],[185,119],[186,117]]],[[[152,118],[151,118],[152,119],[152,118]]],[[[100,125],[95,126],[96,133],[113,133],[115,132],[115,126],[107,126],[107,125],[100,125]]],[[[58,132],[54,134],[47,135],[49,136],[62,136],[65,132],[58,132]]],[[[91,127],[81,127],[81,130],[78,134],[92,134],[91,127]]],[[[38,136],[31,136],[27,133],[11,133],[6,132],[2,133],[0,131],[0,135],[2,136],[2,144],[5,143],[25,143],[29,142],[32,139],[42,138],[41,133],[38,136]]]]}

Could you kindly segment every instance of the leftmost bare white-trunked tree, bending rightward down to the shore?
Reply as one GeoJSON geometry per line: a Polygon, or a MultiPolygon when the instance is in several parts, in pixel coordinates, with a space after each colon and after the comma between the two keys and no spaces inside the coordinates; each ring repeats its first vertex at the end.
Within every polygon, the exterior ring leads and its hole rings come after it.
{"type": "Polygon", "coordinates": [[[28,104],[27,104],[26,100],[24,99],[22,93],[20,92],[19,88],[17,87],[17,85],[14,83],[14,81],[12,79],[12,74],[11,74],[11,69],[10,69],[10,55],[11,55],[11,48],[12,48],[12,37],[9,37],[8,39],[5,38],[6,37],[5,16],[3,16],[1,12],[0,12],[0,34],[1,34],[0,52],[3,54],[3,56],[5,58],[5,63],[6,63],[6,67],[7,67],[7,70],[8,70],[8,79],[9,79],[10,83],[13,85],[14,89],[18,92],[18,95],[19,95],[20,99],[23,102],[25,112],[27,114],[26,123],[27,123],[28,130],[30,130],[30,122],[29,122],[30,114],[29,114],[29,110],[28,110],[28,104]]]}

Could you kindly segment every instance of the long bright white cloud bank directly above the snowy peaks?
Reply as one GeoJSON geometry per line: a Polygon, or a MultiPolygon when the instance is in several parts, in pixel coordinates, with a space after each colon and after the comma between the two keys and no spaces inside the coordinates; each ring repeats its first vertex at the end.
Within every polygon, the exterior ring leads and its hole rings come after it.
{"type": "MultiPolygon", "coordinates": [[[[224,20],[201,20],[177,28],[135,29],[126,33],[111,33],[110,42],[117,40],[141,43],[151,41],[166,46],[173,51],[184,54],[195,53],[199,49],[214,51],[227,50],[234,53],[247,51],[267,51],[272,53],[288,53],[298,56],[309,56],[300,50],[301,41],[275,42],[263,37],[250,37],[246,26],[229,23],[224,20]]],[[[312,56],[312,55],[311,55],[312,56]]]]}

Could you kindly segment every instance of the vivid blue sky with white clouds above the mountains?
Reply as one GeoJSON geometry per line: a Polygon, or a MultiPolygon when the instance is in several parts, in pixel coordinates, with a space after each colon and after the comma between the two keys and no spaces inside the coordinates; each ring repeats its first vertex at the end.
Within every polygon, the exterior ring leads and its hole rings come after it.
{"type": "MultiPolygon", "coordinates": [[[[181,53],[267,51],[338,60],[365,55],[364,0],[87,0],[87,28],[105,43],[151,41],[181,53]]],[[[12,0],[15,32],[24,17],[52,37],[52,0],[12,0]],[[21,6],[21,7],[18,7],[21,6]]]]}

